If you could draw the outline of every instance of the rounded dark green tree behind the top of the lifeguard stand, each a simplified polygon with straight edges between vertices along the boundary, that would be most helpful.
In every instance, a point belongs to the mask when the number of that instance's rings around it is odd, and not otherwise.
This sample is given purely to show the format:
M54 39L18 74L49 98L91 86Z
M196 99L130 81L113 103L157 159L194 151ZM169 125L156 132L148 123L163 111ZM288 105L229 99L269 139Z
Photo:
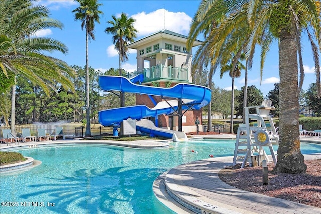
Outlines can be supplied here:
M244 89L245 86L241 88L240 94L236 96L236 100L238 102L238 106L236 106L236 117L242 116L244 117ZM247 104L248 106L259 106L261 105L263 100L263 93L256 88L255 86L248 86L247 87ZM250 114L256 114L256 109L255 108L249 108L249 113Z

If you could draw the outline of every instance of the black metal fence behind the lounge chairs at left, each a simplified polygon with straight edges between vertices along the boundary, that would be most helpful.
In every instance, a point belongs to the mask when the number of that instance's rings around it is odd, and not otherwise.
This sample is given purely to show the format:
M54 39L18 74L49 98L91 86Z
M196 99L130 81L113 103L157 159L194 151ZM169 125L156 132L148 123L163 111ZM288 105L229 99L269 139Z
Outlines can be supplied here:
M45 129L46 133L49 135L54 135L56 131L56 127L62 127L63 134L66 135L66 138L77 138L84 137L86 128L79 125L17 125L16 133L22 133L23 128L29 128L32 136L38 136L37 129ZM1 129L10 129L8 126L0 126ZM92 127L91 135L101 135L101 134L113 134L113 128L111 127L103 127L99 126L97 128ZM0 132L2 133L2 132Z

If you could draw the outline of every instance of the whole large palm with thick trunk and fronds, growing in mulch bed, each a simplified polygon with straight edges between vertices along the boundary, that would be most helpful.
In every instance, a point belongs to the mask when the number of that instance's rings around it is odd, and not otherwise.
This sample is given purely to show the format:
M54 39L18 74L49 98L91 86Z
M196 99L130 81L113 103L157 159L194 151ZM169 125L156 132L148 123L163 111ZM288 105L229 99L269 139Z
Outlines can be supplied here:
M261 46L261 77L266 54L274 40L279 41L280 141L275 172L304 173L306 165L300 151L298 94L304 79L301 36L306 32L312 47L318 95L321 94L319 48L321 46L321 4L319 1L204 0L196 12L197 21L222 18L208 37L209 55L220 59L221 47L230 43L233 32L248 25L246 58L251 64L256 45ZM199 28L202 28L200 25ZM197 33L194 31L193 33ZM191 34L191 37L195 35ZM231 46L230 53L237 47ZM298 70L300 81L298 83Z

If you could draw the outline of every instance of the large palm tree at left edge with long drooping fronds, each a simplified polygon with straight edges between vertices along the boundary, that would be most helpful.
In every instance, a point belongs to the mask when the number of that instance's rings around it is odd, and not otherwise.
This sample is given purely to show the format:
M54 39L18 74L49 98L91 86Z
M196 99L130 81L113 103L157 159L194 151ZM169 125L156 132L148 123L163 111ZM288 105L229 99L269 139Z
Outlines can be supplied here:
M1 81L7 81L5 91L12 87L11 131L15 133L16 76L25 76L50 96L51 89L60 83L73 90L69 77L74 71L63 61L44 55L41 51L67 53L67 47L54 39L32 37L47 27L62 28L62 24L48 17L44 6L32 6L31 1L0 1L0 69Z

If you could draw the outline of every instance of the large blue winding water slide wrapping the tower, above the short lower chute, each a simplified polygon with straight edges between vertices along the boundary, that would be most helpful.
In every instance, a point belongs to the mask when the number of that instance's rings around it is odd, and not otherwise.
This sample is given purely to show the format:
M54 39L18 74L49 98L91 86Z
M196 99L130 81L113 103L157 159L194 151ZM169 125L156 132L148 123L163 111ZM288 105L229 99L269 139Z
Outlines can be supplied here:
M146 95L161 96L164 98L181 98L190 100L189 106L200 109L211 100L211 89L187 83L179 83L170 88L137 85L129 79L121 76L99 76L99 86L105 91L121 91ZM140 120L145 117L156 117L161 114L171 114L176 107L160 105L159 108L149 108L145 105L136 105L107 109L98 112L99 123L104 126L112 126L128 118ZM186 108L186 107L185 107Z

